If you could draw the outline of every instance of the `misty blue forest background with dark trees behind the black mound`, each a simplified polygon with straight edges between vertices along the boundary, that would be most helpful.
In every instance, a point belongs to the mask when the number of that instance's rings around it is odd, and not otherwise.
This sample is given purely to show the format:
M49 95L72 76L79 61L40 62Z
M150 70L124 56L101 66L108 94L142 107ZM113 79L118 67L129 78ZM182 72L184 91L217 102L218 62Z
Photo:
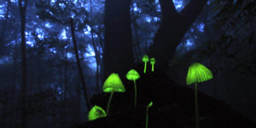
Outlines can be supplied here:
M0 0L1 127L70 127L110 73L154 56L178 84L192 62L199 90L256 120L253 0ZM85 93L84 93L85 92Z

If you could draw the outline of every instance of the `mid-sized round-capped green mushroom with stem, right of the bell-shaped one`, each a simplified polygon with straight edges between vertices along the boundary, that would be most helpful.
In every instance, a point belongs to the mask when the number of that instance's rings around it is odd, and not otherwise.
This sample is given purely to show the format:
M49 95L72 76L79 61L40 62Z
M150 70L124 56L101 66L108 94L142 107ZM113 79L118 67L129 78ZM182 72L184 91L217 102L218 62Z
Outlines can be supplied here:
M140 78L140 74L137 73L136 70L131 69L127 74L126 74L126 79L132 80L134 83L134 106L136 107L137 105L137 85L136 85L136 80Z

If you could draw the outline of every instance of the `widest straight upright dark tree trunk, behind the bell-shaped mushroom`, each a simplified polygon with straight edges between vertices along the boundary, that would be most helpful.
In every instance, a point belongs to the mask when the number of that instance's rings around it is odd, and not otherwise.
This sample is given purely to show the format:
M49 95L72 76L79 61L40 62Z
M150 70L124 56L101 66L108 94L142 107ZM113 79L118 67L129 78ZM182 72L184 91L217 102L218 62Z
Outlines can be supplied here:
M119 73L121 79L134 66L131 44L131 0L106 0L103 79Z

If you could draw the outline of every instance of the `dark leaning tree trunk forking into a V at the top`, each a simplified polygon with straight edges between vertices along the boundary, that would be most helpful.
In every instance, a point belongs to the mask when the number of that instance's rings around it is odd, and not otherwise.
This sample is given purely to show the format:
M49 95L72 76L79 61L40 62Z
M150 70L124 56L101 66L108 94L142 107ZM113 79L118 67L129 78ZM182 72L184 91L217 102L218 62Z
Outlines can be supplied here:
M148 55L156 58L157 69L167 72L168 62L172 59L177 45L206 3L206 0L190 0L183 11L177 13L172 0L160 0L161 25L148 51Z

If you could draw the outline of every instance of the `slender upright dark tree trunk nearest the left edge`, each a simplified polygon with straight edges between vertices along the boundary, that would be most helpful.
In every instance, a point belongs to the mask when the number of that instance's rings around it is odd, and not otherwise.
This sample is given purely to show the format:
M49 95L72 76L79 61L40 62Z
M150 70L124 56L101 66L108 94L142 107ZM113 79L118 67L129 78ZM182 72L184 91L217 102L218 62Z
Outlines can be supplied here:
M26 5L26 0L19 0L21 35L21 128L26 128Z

